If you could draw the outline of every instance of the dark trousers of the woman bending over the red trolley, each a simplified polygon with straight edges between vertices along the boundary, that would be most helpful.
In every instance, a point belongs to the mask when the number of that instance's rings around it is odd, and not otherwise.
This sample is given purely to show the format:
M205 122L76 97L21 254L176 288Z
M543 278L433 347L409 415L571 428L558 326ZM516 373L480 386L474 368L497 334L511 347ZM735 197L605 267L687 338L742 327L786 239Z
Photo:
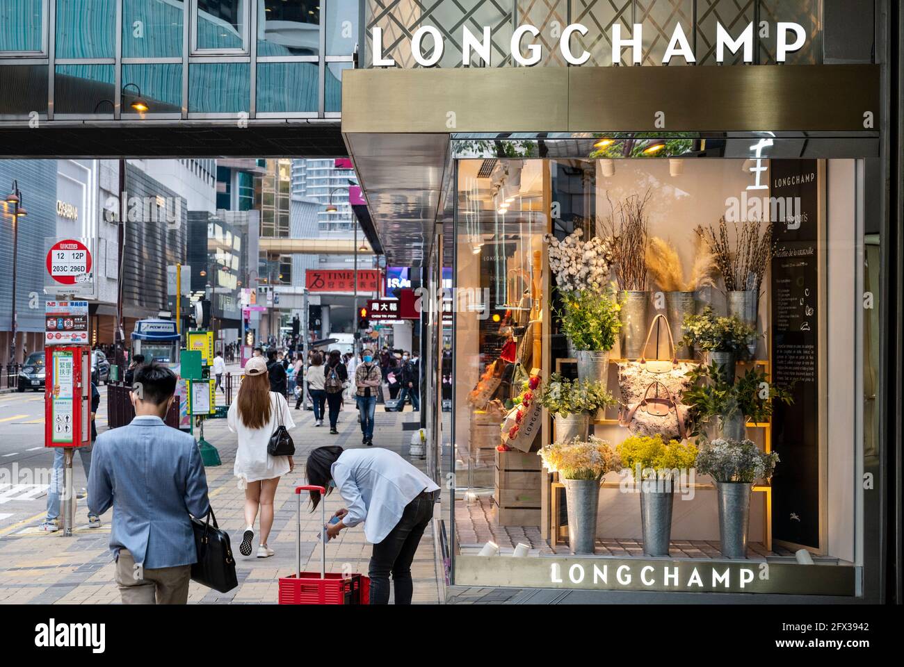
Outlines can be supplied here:
M401 519L379 544L373 545L368 568L371 578L371 604L387 605L390 601L390 574L395 587L395 604L410 605L414 586L411 583L411 561L418 550L424 529L433 518L436 493L420 493L405 506Z

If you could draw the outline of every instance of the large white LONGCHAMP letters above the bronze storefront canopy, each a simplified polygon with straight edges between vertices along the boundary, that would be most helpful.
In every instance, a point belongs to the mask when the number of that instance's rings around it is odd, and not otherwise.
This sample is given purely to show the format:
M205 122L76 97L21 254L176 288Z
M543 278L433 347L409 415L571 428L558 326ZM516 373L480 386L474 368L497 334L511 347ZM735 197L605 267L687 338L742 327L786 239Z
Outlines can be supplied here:
M462 64L471 63L472 53L476 53L477 57L485 64L489 64L492 52L492 29L485 25L483 33L478 37L472 33L467 26L462 26L461 52ZM737 38L733 38L730 33L722 26L716 23L716 62L722 64L726 57L726 53L735 54L742 52L744 62L753 62L753 40L754 23L748 23L747 27ZM560 24L554 22L550 26L550 32L553 39L559 40L559 50L562 57L570 65L583 65L589 61L590 54L587 51L575 52L572 44L572 38L575 33L586 36L589 30L586 25L581 23L571 23L565 28L561 28ZM643 23L634 23L630 37L622 34L621 23L613 23L610 27L610 42L612 43L612 61L620 62L623 49L629 49L631 52L631 61L639 65L643 58L644 44L644 25ZM787 55L799 51L806 42L806 31L800 23L777 22L775 25L776 32L776 61L785 62ZM372 45L373 45L373 67L395 67L396 61L391 56L383 55L383 31L381 27L372 28ZM759 23L759 36L761 38L768 37L769 23ZM433 41L432 50L425 54L424 39L430 35ZM512 39L509 48L512 53L513 60L525 67L536 65L542 58L542 46L540 44L528 42L526 46L526 54L523 51L522 42L530 35L530 38L540 36L540 30L529 24L518 26L512 33ZM421 67L433 67L443 57L443 49L445 41L442 33L434 25L422 25L416 30L410 39L411 55ZM668 45L662 57L662 64L667 65L674 57L681 57L687 62L695 62L687 33L681 23L675 23L672 37L669 39Z

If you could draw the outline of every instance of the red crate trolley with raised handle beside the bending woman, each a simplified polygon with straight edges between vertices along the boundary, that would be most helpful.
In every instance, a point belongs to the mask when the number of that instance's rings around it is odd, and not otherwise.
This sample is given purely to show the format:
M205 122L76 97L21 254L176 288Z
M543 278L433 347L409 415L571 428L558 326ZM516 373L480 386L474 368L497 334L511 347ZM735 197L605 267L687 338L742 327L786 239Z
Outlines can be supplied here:
M323 531L320 535L320 572L301 571L301 492L320 492ZM367 605L371 596L371 579L362 574L345 577L326 572L326 489L323 486L297 486L297 541L294 575L279 578L280 605Z

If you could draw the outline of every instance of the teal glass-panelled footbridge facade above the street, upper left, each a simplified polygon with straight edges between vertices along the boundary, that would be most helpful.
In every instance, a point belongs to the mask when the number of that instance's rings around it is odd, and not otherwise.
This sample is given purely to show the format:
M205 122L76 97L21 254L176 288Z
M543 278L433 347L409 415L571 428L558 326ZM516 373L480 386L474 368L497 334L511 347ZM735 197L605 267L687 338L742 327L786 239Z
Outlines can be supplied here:
M0 120L338 118L361 40L357 0L10 0L0 20Z

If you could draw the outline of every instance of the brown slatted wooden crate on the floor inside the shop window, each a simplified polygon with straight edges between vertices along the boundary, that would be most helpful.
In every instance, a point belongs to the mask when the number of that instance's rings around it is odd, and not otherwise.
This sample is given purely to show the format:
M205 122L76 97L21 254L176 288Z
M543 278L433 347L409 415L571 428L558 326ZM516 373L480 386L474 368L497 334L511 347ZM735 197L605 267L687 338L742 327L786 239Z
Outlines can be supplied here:
M542 471L535 453L496 451L493 499L501 526L539 526Z

